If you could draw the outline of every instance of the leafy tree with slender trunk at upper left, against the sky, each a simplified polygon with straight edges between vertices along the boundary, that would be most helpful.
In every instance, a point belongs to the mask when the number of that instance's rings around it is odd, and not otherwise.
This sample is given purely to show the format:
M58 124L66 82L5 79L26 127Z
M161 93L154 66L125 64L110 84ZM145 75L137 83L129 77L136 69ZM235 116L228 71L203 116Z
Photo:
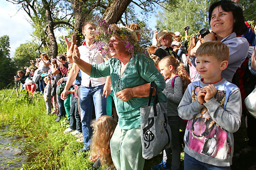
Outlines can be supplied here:
M41 46L48 50L51 58L58 54L58 46L54 30L62 27L72 27L71 6L65 0L7 0L17 4L24 10L34 28L35 40L41 41Z

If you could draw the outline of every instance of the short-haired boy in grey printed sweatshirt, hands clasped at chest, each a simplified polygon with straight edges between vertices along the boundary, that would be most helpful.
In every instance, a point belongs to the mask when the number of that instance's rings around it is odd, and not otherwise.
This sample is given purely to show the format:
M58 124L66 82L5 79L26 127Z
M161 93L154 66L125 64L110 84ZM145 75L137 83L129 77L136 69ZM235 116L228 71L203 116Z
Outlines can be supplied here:
M221 78L229 48L208 41L197 49L196 57L202 79L188 85L178 107L179 116L188 119L184 169L230 169L242 105L239 88Z

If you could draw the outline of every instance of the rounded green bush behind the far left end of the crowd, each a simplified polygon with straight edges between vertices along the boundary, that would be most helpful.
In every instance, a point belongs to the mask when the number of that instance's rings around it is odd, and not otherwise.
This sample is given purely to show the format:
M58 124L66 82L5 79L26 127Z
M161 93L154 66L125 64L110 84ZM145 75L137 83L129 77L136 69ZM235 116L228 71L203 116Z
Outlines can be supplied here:
M39 58L39 46L35 42L27 42L21 44L14 54L14 62L17 70L23 70L25 66L29 66L29 60ZM41 48L42 51L42 48Z

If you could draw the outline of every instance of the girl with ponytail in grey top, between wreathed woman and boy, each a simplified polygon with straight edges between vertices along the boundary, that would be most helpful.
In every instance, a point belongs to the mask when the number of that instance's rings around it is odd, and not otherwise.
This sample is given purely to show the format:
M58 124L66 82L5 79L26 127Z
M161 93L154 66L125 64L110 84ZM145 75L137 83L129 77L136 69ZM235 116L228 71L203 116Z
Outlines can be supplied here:
M168 122L172 131L172 145L163 151L163 160L151 169L170 169L170 153L172 152L172 169L180 167L179 130L181 118L178 116L178 105L187 85L190 84L183 64L173 56L166 56L159 62L160 72L166 79L166 88L163 90L168 99Z

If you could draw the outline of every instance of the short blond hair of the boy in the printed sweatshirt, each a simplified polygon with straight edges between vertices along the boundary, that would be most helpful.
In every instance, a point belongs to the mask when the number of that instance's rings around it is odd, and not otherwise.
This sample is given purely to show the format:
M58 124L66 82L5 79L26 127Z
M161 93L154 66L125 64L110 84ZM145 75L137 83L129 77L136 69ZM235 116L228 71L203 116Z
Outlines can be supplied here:
M218 61L228 61L229 48L221 41L208 41L200 45L196 56L214 56Z

